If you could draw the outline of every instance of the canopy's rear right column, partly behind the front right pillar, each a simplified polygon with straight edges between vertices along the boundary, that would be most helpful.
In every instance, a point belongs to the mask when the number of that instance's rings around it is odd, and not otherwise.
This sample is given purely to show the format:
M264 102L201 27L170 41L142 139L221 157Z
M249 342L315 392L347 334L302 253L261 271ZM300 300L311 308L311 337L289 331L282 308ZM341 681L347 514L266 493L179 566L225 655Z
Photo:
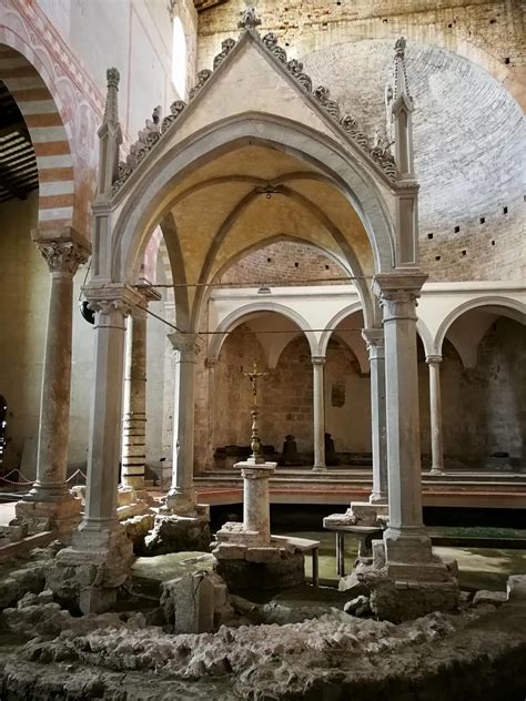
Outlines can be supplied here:
M387 416L385 407L385 348L383 328L364 328L371 365L373 491L371 504L387 504Z

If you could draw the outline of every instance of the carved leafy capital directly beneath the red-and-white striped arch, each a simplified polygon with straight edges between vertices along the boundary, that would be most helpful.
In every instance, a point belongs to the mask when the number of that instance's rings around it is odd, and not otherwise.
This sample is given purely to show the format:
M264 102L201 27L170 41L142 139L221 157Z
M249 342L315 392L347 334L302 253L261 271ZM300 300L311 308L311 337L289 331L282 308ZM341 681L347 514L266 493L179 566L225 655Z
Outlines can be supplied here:
M72 277L91 254L91 243L74 228L34 228L31 238L48 263L49 272Z

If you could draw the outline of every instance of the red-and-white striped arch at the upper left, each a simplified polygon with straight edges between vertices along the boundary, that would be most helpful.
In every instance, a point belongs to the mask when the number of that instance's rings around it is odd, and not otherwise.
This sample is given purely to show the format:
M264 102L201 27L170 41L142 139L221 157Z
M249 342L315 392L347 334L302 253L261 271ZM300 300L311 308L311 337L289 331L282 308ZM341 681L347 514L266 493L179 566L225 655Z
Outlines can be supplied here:
M14 38L18 39L18 38ZM9 45L9 42L16 48ZM0 80L14 98L28 128L39 173L41 228L73 224L74 164L70 130L45 65L30 48L0 27Z

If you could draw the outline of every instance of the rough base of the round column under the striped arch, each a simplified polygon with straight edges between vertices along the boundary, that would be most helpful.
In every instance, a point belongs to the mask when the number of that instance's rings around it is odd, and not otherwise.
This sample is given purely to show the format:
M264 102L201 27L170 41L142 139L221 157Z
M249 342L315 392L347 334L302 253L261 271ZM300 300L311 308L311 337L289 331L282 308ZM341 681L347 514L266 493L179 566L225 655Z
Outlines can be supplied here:
M16 518L9 525L21 528L28 536L45 530L57 531L58 538L68 543L73 529L81 521L81 508L82 500L69 492L61 500L22 499L14 506Z

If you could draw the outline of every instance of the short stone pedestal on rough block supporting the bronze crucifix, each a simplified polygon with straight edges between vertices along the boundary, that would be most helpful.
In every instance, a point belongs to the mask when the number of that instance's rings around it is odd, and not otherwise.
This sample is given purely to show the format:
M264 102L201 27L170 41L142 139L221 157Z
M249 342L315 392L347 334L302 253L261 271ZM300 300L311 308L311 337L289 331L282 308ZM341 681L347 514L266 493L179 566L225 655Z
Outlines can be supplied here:
M304 581L304 556L270 528L269 478L276 463L236 463L243 476L243 524L226 522L212 543L216 571L231 590L280 589Z

